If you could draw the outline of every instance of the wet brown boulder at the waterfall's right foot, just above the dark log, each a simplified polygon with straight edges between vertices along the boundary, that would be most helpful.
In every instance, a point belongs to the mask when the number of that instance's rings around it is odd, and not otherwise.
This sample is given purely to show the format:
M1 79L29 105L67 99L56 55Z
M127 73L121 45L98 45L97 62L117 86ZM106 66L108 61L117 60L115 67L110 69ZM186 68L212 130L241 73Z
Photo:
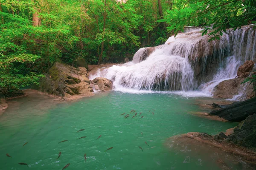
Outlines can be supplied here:
M243 81L244 79L239 78L224 80L215 87L213 95L225 99L232 99L233 96L242 93L244 99L253 98L255 96L253 85L249 85L249 83L241 84Z

